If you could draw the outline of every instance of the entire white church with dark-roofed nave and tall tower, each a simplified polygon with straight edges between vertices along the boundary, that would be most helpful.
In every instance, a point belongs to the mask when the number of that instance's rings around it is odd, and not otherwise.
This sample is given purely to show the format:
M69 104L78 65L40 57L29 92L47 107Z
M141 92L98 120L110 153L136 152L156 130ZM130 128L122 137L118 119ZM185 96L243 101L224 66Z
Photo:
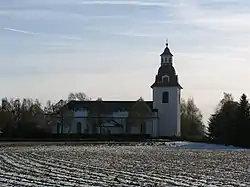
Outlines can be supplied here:
M168 43L151 85L153 101L70 101L53 133L180 136L181 85Z

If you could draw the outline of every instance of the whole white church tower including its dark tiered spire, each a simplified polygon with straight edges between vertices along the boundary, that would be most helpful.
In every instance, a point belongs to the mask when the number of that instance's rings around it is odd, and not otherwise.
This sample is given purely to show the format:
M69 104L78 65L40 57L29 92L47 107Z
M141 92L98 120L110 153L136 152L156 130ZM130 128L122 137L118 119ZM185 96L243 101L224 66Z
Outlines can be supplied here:
M153 89L153 107L158 109L158 136L181 136L180 97L181 85L173 66L173 55L168 42L160 55L161 65L155 76Z

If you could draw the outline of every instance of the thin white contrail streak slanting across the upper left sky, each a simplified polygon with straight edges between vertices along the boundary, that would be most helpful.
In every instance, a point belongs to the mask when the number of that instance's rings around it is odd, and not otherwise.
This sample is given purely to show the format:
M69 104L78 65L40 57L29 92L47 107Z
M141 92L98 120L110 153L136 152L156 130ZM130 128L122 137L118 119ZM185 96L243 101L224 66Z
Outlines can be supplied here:
M32 31L27 31L27 30L21 30L21 29L14 29L14 28L3 28L6 31L11 31L11 32L17 32L17 33L22 33L22 34L27 34L27 35L33 35L33 36L54 36L54 37L59 37L63 39L70 39L70 40L82 40L81 37L77 36L69 36L69 35L61 35L61 34L43 34L43 33L38 33L38 32L32 32Z

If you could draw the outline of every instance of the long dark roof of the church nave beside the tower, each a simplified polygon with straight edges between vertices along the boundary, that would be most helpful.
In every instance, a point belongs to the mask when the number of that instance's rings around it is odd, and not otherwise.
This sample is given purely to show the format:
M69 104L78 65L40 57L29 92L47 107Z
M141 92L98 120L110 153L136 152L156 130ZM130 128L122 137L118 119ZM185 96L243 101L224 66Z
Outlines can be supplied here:
M101 108L104 113L112 113L115 111L129 111L137 101L70 101L67 104L69 110L85 108L87 110L95 110ZM145 101L145 103L153 110L153 101Z

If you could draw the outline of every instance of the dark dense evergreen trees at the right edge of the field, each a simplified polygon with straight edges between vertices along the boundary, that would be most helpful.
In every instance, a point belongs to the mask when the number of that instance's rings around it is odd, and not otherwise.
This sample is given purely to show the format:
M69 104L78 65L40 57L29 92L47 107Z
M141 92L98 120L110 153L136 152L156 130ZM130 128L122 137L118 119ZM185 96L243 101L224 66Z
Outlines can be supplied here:
M208 122L207 137L219 144L250 147L250 104L245 94L235 101L224 93Z

